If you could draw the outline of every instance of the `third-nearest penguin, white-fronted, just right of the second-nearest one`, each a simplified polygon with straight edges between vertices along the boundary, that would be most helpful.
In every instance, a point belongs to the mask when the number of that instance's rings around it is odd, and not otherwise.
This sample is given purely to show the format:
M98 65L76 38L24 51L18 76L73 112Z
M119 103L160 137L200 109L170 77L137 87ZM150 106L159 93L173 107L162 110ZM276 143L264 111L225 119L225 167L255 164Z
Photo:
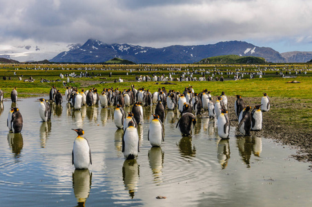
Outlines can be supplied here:
M154 119L150 121L150 127L148 128L148 141L152 146L159 147L164 141L164 128L163 122L159 119L159 115L154 114Z

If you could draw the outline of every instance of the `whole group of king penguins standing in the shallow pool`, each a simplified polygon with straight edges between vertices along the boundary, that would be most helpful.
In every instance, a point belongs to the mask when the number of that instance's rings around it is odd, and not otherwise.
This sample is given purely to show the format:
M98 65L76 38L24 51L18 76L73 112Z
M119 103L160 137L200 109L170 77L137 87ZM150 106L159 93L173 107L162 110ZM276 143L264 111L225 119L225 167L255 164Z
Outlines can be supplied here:
M164 117L165 110L177 109L181 117L177 121L176 128L179 128L182 136L191 136L192 129L196 124L196 117L208 111L209 118L217 119L217 132L220 138L228 139L231 123L228 119L227 97L224 92L217 96L215 102L211 92L202 90L195 93L193 87L186 87L184 92L168 90L162 87L153 94L145 88L131 88L119 90L119 88L104 88L101 95L96 88L78 92L77 88L66 87L65 99L71 103L74 110L80 110L81 106L94 106L100 103L102 108L115 106L114 123L119 129L124 130L122 137L122 152L126 159L135 159L139 153L139 135L137 126L143 124L143 107L156 104L153 119L148 128L148 141L153 147L159 147L164 141ZM270 109L269 96L264 92L261 104L246 106L241 95L236 95L235 115L238 119L238 131L244 135L251 135L252 130L262 130L262 112ZM55 86L52 86L49 93L50 100L39 99L39 116L42 121L50 121L52 102L61 105L63 97ZM0 102L3 101L3 91L0 89ZM17 102L17 89L11 92L12 104ZM131 111L124 111L124 107L132 107ZM7 126L14 133L21 132L23 118L19 108L12 107L8 113ZM72 129L77 132L72 149L72 164L77 169L87 169L92 164L91 150L88 140L84 137L84 130L81 128Z

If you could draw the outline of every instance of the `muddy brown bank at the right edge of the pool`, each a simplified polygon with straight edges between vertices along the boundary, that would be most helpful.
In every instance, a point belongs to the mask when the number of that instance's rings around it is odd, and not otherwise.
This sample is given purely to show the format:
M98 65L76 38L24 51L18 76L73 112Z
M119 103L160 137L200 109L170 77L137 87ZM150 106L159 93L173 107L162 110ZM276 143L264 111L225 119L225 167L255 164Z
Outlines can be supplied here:
M228 115L231 126L238 126L235 115L234 103L236 97L228 97ZM261 97L242 97L246 105L260 104ZM304 115L306 108L312 108L309 101L300 101L291 98L271 97L269 112L263 112L262 130L251 132L251 135L275 139L276 141L298 149L296 155L292 155L298 161L312 163L312 139L311 123L300 121L298 114ZM309 116L309 114L308 114ZM297 119L296 119L297 118ZM312 168L312 166L310 166Z

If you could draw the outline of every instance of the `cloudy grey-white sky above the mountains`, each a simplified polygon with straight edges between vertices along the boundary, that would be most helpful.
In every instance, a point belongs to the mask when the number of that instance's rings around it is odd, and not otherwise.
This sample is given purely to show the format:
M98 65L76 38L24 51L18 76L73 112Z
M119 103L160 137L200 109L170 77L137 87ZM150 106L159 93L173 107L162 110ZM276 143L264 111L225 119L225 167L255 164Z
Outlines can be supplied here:
M247 41L312 51L311 0L0 0L0 50L99 39L162 48Z

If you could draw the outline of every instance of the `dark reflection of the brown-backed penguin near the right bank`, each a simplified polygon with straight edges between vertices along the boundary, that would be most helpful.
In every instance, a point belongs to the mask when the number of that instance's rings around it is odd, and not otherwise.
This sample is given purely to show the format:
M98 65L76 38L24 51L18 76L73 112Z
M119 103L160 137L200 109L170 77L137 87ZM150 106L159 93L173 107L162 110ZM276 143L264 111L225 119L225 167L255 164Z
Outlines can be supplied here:
M237 147L240 152L242 160L247 165L247 168L250 168L250 159L251 159L251 149L253 143L251 137L240 137L237 138Z

